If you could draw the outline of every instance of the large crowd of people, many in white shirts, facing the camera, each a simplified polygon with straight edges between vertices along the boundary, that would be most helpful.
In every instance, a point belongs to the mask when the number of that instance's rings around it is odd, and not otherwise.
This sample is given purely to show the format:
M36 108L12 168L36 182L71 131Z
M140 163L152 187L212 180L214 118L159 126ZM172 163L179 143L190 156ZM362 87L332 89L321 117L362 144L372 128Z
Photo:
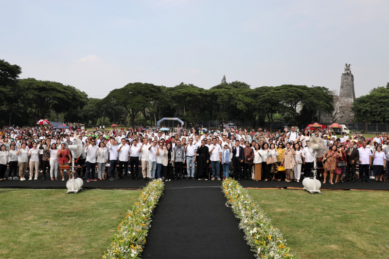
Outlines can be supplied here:
M52 129L51 127L9 127L0 131L0 181L19 179L71 178L72 153L68 146L75 139L82 143L82 154L75 157L77 174L90 181L162 178L255 181L301 181L312 177L314 152L312 138L321 138L327 151L318 158L319 179L335 184L343 181L375 181L388 178L388 136L323 130L285 129L269 133L230 128L221 130L183 129ZM8 170L8 177L6 172ZM97 172L96 172L97 171ZM359 174L357 176L357 173Z

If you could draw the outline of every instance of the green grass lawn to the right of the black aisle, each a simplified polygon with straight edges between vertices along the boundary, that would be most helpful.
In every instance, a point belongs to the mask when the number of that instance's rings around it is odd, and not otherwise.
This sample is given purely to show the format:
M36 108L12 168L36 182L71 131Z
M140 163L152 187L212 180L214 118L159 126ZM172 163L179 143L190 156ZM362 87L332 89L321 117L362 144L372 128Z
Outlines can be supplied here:
M389 192L248 192L301 259L389 258Z

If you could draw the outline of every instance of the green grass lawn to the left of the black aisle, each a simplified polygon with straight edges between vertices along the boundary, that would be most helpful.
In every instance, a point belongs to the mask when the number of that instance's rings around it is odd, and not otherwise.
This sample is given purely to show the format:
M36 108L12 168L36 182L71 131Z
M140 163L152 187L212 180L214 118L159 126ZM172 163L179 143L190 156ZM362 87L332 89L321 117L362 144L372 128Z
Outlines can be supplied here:
M0 258L101 258L140 194L0 189Z

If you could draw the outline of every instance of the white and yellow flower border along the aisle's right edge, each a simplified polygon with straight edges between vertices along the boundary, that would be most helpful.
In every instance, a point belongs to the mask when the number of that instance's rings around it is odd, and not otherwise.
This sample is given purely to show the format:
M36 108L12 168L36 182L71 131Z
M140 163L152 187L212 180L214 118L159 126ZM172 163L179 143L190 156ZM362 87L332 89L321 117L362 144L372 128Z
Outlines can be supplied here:
M227 198L227 206L231 206L240 220L239 228L245 232L245 239L255 252L257 258L291 259L290 247L278 228L272 227L263 210L255 200L235 180L223 180L223 192Z

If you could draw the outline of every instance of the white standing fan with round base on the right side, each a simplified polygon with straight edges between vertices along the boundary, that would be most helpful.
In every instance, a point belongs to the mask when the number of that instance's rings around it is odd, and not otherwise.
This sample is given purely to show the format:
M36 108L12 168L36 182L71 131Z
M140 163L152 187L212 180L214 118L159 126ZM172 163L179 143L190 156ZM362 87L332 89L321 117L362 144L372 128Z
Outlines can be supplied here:
M318 170L317 163L318 158L323 157L325 155L325 152L327 151L327 145L321 138L313 138L308 144L308 149L312 149L314 153L314 177L304 178L302 180L302 185L304 186L303 190L306 192L310 192L311 194L322 194L319 190L321 187L321 183L318 179L316 179Z

